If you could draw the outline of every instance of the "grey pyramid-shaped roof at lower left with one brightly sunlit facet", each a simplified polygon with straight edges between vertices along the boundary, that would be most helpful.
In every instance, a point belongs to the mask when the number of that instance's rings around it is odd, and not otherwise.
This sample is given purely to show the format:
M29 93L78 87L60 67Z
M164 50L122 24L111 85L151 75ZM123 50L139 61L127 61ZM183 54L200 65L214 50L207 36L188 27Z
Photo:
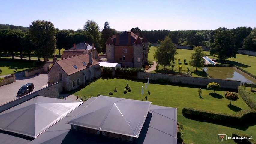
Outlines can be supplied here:
M37 96L0 113L0 129L37 137L80 104L74 101Z

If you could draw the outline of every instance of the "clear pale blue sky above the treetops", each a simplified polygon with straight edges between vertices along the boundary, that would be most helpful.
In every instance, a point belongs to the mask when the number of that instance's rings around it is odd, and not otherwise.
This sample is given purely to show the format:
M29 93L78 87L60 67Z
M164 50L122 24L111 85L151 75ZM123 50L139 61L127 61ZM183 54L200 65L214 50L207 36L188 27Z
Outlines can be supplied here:
M256 0L2 0L0 24L28 27L51 21L58 29L83 29L93 20L117 31L211 30L256 27Z

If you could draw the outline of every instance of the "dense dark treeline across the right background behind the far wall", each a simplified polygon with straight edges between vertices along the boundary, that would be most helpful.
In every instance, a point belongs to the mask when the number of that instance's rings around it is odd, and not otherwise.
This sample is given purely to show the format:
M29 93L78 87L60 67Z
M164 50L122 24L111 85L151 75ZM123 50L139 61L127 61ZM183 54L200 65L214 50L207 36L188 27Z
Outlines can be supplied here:
M254 28L255 29L255 28ZM256 51L255 47L255 30L250 27L237 27L229 29L230 41L233 42L236 48ZM141 31L147 40L151 43L159 43L164 40L165 36L171 38L174 44L180 45L195 45L195 46L210 46L214 40L216 30L187 30L187 31L169 31L169 30L154 30Z

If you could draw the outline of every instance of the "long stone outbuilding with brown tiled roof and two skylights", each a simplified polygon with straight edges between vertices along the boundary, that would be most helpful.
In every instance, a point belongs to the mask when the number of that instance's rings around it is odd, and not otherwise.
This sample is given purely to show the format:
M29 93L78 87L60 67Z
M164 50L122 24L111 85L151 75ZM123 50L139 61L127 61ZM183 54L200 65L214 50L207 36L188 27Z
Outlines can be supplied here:
M71 91L101 76L101 67L91 53L54 62L48 74L50 84L59 82L59 92Z

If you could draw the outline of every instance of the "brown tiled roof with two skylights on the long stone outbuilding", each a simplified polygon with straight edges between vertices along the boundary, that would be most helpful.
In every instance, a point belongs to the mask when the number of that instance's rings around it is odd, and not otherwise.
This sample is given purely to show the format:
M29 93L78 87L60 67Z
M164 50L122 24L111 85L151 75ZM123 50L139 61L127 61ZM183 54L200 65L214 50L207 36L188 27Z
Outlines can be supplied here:
M84 65L83 62L85 62L86 65ZM67 75L71 75L78 71L84 70L88 67L92 67L94 65L99 64L98 61L96 61L93 58L92 58L92 62L93 62L92 64L89 63L89 55L88 54L77 55L77 56L64 58L64 59L56 61L56 63L59 64L59 66L62 68L62 70L64 70L64 72ZM76 65L77 69L75 69L73 65Z

